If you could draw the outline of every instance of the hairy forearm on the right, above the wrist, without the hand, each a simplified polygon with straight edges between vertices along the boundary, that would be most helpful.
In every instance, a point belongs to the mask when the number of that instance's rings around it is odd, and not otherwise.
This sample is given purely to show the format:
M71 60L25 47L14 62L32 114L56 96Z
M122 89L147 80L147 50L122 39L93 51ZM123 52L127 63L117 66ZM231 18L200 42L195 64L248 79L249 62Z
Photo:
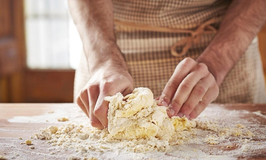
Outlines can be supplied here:
M208 66L219 86L265 23L265 8L264 0L234 0L216 36L196 60Z

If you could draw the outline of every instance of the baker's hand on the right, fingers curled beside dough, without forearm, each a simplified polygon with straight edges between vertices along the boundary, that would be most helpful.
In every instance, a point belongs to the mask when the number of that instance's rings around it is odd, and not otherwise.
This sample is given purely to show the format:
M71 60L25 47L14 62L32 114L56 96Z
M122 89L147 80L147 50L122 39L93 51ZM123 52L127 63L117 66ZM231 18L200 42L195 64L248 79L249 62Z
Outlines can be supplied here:
M172 116L196 118L219 94L219 87L208 67L192 58L176 66L166 84L158 105L168 107Z

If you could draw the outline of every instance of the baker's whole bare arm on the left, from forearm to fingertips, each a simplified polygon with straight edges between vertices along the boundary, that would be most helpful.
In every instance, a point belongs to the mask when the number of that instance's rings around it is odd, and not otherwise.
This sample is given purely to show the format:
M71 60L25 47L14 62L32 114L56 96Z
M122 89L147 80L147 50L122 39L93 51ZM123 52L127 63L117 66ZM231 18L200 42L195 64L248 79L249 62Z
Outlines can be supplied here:
M111 0L69 0L69 8L83 43L91 79L76 97L93 127L107 127L105 96L127 95L133 81L116 44Z

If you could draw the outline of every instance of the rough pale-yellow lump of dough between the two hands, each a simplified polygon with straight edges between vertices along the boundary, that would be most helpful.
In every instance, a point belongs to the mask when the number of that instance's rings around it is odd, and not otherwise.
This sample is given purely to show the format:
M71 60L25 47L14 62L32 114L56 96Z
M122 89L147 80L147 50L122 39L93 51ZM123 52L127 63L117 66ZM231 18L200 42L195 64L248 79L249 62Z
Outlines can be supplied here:
M116 139L157 137L169 141L175 132L196 127L186 117L171 117L166 107L158 106L148 88L135 88L123 97L121 93L104 98L109 102L108 131Z

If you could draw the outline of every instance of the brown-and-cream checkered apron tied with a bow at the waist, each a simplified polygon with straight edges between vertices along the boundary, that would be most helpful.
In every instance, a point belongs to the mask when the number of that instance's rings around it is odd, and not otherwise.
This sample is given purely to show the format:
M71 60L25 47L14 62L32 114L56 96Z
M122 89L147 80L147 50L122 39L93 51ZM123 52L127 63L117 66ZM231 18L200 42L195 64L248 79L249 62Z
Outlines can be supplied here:
M196 59L209 45L231 1L113 0L117 44L134 87L160 96L176 65ZM90 57L88 57L90 58ZM91 74L82 53L74 96ZM257 38L229 72L215 103L266 103Z

